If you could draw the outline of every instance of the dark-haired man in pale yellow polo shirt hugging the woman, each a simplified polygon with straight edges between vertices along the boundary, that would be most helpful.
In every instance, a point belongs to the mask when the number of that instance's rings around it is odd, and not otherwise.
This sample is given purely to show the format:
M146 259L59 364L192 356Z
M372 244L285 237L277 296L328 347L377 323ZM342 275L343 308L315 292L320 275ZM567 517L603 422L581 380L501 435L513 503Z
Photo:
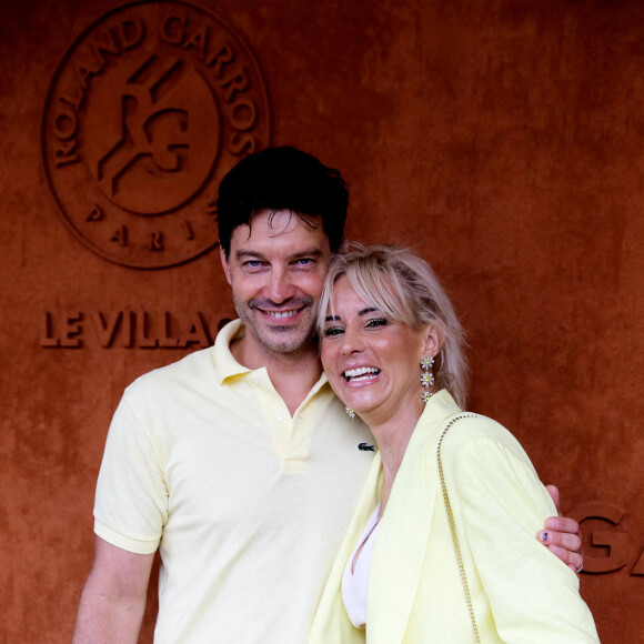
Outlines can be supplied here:
M222 181L221 261L240 320L125 391L77 644L137 642L158 549L157 643L305 642L372 454L314 333L348 200L335 170L293 148L253 154ZM573 534L551 530L546 543L578 549L576 523L559 522Z

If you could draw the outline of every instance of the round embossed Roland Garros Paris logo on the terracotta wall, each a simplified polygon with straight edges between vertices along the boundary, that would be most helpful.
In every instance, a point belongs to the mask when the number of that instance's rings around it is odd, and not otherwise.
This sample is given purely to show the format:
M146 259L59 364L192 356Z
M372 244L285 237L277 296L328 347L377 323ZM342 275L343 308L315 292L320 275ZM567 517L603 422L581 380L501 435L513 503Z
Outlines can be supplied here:
M172 266L215 244L219 182L269 129L259 67L230 28L185 2L134 2L92 24L56 72L44 169L93 251Z

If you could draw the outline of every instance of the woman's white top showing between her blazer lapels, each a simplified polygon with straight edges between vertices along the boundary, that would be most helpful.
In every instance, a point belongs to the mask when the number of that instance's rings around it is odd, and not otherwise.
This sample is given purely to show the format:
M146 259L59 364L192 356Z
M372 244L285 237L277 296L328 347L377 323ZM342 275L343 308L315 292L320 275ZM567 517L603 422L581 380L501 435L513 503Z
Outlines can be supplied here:
M344 608L356 628L366 626L366 598L369 595L369 571L371 570L371 557L373 555L373 545L380 527L380 503L371 515L366 527L358 540L342 576L342 601ZM363 545L364 544L364 545ZM360 556L355 560L360 546L362 546ZM353 572L351 571L353 566Z

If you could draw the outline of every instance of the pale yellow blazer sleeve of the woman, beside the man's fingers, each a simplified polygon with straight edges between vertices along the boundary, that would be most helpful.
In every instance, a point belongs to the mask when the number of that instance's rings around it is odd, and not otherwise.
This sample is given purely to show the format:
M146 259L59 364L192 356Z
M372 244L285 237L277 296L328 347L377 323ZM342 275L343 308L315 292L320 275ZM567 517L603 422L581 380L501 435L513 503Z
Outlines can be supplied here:
M536 540L556 510L527 455L489 419L462 423L470 427L460 427L465 431L452 443L447 485L501 640L598 642L576 575Z

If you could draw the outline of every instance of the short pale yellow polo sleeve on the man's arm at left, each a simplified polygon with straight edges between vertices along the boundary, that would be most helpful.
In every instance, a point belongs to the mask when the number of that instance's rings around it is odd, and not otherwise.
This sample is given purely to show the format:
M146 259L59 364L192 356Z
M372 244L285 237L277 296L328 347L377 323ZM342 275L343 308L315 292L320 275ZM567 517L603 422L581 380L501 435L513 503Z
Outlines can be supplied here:
M122 550L152 554L167 521L161 449L139 422L125 393L108 433L97 483L94 532Z

